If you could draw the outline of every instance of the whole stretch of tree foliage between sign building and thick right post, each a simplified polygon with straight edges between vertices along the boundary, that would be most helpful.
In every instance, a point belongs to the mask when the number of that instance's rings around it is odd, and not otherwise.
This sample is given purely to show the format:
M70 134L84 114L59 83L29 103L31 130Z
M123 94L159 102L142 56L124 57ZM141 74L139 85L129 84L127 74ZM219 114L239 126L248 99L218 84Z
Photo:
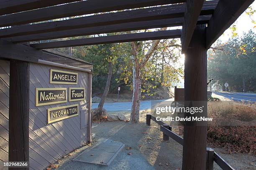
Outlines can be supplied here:
M138 60L142 60L152 41L136 43L140 46ZM158 87L170 87L172 83L179 82L179 79L183 77L183 65L177 65L180 59L180 50L180 42L177 40L161 40L154 55L141 69L143 95L153 96ZM92 92L94 94L104 91L108 77L108 62L113 64L110 93L116 93L117 87L121 87L120 92L132 92L131 43L73 47L72 54L93 64Z

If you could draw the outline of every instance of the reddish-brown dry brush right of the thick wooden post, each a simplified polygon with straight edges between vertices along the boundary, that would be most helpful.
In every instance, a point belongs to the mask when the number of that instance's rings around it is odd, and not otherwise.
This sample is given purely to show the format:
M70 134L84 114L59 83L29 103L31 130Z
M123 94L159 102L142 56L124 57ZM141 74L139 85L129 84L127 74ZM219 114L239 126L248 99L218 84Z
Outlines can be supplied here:
M228 153L256 154L256 104L208 102L207 141Z

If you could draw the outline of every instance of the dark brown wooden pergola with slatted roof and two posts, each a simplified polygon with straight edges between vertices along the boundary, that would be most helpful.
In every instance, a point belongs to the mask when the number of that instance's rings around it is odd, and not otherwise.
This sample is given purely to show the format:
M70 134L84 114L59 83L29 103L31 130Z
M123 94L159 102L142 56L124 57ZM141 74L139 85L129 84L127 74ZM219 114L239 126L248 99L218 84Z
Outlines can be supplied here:
M9 161L28 161L29 158L29 62L38 62L40 59L38 56L49 55L41 49L181 38L182 53L185 54L185 101L206 101L207 49L253 1L2 0L0 58L10 60ZM102 14L87 15L94 13ZM82 16L41 22L78 15ZM182 26L182 30L29 43L38 40L176 26ZM182 169L205 170L206 137L207 126L184 126Z

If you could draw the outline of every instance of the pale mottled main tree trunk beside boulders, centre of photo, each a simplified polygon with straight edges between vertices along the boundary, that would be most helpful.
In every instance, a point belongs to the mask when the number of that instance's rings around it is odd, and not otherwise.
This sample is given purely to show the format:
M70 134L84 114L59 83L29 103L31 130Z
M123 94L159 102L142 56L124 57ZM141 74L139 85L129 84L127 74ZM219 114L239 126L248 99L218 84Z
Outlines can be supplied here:
M131 123L139 122L140 104L141 104L141 76L136 62L136 56L133 56L133 101L131 108Z

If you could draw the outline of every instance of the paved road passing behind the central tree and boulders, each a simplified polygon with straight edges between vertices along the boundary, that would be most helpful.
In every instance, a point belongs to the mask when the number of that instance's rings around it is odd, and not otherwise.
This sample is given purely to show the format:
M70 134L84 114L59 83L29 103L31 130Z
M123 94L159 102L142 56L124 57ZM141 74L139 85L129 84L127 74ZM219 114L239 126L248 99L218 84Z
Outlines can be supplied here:
M174 100L174 99L168 99ZM154 101L164 101L164 100L154 100ZM92 103L92 108L97 108L99 103ZM113 103L104 103L103 108L108 112L118 112L118 111L131 111L132 102L113 102ZM142 101L140 110L147 110L151 108L151 100Z

